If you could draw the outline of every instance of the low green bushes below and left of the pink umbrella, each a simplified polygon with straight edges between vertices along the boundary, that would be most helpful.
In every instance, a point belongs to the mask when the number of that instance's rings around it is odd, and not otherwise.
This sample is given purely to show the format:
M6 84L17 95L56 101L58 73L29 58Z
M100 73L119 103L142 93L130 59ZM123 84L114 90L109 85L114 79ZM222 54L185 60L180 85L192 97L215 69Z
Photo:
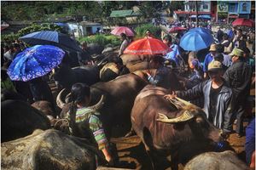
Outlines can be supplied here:
M121 44L121 40L116 36L106 36L106 35L95 35L90 37L79 37L79 42L87 42L87 43L98 43L102 46L106 46L108 44L112 44L113 46L118 46Z

